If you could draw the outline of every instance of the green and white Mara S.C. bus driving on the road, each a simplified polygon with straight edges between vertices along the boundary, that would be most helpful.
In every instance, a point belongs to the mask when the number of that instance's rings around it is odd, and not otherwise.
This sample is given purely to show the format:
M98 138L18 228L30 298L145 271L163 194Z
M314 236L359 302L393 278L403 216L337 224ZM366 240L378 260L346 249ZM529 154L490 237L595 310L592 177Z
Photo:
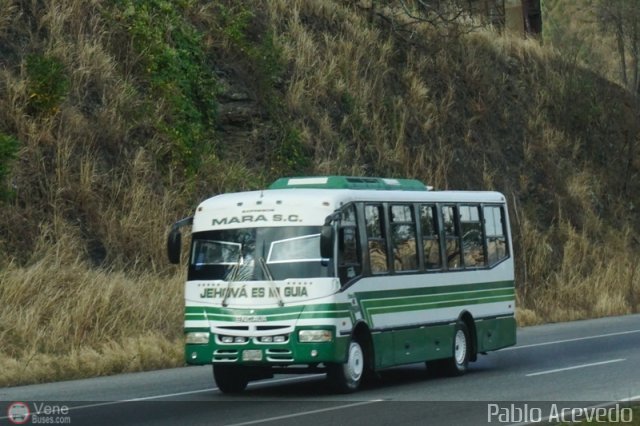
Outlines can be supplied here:
M274 373L320 373L342 392L384 368L460 375L516 341L505 197L417 180L282 178L222 194L167 243L185 284L185 359L223 392Z

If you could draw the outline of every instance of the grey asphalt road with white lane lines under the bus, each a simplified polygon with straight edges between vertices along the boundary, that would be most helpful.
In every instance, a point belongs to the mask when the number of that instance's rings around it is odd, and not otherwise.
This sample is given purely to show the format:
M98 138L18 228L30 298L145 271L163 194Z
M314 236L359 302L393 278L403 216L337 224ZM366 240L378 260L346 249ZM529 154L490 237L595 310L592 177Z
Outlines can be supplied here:
M639 365L640 315L629 315L522 328L517 346L480 356L465 376L412 364L349 395L332 394L322 375L276 376L225 395L210 367L1 388L0 425L12 424L7 407L16 401L39 408L41 421L73 425L526 424L616 401L624 415L628 401L640 401ZM36 401L47 402L49 420Z

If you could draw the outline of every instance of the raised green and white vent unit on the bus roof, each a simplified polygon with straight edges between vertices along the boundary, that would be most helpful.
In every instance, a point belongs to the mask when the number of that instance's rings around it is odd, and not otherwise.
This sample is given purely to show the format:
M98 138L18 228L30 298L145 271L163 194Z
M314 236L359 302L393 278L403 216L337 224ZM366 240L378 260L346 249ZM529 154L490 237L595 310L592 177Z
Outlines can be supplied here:
M269 189L377 189L395 191L429 191L433 189L416 179L390 179L355 176L309 176L280 178Z

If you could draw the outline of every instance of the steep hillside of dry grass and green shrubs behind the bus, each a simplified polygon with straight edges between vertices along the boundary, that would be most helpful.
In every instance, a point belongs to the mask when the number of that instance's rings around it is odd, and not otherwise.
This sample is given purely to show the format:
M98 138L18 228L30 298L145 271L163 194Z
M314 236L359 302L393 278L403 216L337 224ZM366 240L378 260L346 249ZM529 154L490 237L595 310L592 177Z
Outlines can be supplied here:
M0 0L0 386L179 365L168 226L283 175L499 190L521 324L640 310L627 93L366 3Z

